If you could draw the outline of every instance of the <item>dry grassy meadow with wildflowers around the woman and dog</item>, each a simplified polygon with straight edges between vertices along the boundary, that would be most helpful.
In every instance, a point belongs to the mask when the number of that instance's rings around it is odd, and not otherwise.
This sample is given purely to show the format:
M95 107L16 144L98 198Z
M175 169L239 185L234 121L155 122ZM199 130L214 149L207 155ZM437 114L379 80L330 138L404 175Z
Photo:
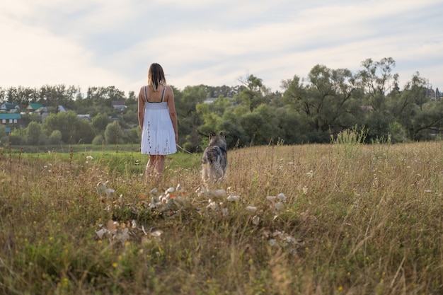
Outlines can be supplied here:
M1 294L442 294L443 143L0 149Z

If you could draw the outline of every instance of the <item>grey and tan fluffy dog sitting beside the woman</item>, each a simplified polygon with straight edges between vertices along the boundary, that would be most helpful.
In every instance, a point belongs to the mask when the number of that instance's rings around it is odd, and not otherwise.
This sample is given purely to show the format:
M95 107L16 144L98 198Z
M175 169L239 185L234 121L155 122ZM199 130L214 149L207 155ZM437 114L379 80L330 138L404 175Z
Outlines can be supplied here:
M220 132L219 135L216 135L214 132L210 132L209 144L202 156L202 180L205 187L208 188L209 183L220 185L224 180L227 168L228 151L224 133Z

